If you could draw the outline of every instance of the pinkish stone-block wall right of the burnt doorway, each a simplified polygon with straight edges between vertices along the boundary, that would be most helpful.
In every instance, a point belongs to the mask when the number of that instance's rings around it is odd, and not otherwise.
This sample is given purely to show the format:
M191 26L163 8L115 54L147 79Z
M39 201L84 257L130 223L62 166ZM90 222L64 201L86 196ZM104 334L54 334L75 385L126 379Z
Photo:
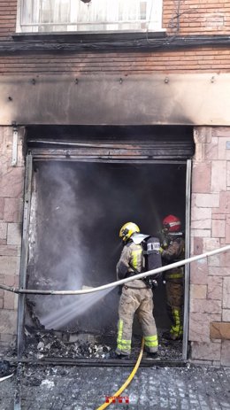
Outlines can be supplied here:
M230 128L196 128L191 253L230 244ZM230 366L230 251L191 264L193 360Z

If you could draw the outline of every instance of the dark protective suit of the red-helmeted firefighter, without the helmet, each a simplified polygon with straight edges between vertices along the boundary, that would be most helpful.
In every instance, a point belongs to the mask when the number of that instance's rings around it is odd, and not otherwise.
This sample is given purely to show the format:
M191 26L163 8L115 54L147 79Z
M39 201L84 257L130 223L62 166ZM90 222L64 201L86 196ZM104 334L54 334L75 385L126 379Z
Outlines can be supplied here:
M185 241L182 234L169 236L169 244L162 251L164 265L177 262L185 257ZM167 310L172 320L172 339L183 334L184 267L174 267L165 272Z

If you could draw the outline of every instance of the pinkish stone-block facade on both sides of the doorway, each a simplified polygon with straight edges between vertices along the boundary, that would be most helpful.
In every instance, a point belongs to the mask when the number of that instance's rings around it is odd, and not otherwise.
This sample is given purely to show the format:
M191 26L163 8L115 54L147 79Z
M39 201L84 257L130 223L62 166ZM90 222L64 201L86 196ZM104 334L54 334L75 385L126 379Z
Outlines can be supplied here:
M0 127L0 283L19 284L25 165L19 130L12 166L12 127ZM230 128L195 128L191 255L230 244ZM17 295L0 290L0 344L14 342ZM230 366L230 252L190 265L191 360Z

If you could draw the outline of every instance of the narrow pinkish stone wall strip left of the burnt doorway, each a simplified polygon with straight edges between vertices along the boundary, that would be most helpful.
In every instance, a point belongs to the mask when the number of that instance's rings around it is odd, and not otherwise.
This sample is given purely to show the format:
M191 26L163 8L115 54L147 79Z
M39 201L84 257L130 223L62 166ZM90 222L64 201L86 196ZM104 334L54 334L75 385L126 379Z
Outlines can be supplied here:
M24 162L21 140L18 163L12 166L12 127L0 127L0 283L19 284ZM15 337L17 295L0 290L0 345Z

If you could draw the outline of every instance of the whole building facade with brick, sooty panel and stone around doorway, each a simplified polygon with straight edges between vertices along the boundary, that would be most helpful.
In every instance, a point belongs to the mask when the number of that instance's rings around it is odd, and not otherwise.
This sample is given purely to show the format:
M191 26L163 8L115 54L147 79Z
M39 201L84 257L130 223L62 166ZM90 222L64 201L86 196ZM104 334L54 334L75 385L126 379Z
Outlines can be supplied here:
M190 161L184 205L187 256L230 244L229 4L109 3L0 4L0 283L6 286L27 284L28 152L36 160L111 155L122 161L130 154L116 138L121 128L132 128L131 148L135 141L141 147L134 160L145 162L142 138L132 138L135 129L150 127L165 144L168 127L182 130L181 150L175 132L175 155L163 144L158 157L152 154L148 161ZM69 152L66 143L63 152L57 151L57 130L69 135L71 128L73 136L79 127L90 132L111 127L114 152L98 153L107 149L101 146L102 134L95 136L95 151L88 153L84 146L85 151L78 147L75 152L74 143ZM192 155L185 148L187 128ZM185 348L194 362L230 366L229 268L229 252L190 264ZM0 290L2 345L15 341L20 304L17 295Z

